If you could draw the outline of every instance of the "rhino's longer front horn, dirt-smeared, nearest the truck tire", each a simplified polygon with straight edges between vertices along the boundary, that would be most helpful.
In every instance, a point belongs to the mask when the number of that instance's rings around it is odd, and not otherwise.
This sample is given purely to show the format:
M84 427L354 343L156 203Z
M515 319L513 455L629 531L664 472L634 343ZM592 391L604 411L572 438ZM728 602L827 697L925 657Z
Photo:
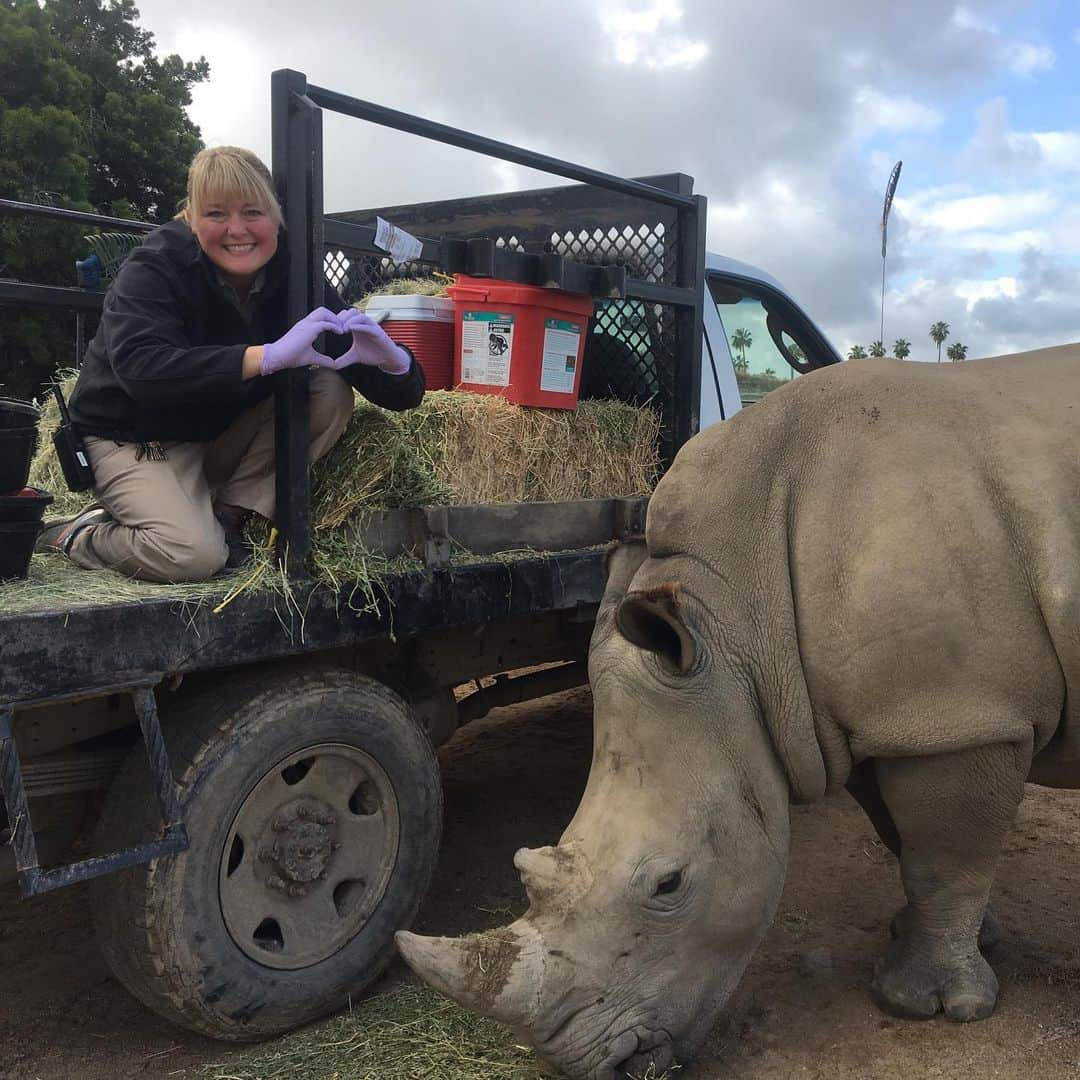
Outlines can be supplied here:
M519 920L468 937L394 935L408 966L459 1004L510 1027L528 1028L540 1008L543 945Z

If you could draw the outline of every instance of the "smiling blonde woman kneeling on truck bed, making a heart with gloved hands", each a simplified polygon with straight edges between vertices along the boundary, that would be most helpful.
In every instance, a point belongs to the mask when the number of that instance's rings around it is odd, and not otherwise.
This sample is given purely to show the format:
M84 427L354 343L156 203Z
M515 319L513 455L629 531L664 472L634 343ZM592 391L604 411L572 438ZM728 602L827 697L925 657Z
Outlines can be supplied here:
M327 307L289 326L287 289L266 165L239 147L203 150L184 210L106 294L70 402L96 502L50 524L39 550L149 581L203 580L243 562L248 514L273 519L269 376L314 368L312 461L345 431L353 389L384 408L420 403L423 373L404 346L330 288Z

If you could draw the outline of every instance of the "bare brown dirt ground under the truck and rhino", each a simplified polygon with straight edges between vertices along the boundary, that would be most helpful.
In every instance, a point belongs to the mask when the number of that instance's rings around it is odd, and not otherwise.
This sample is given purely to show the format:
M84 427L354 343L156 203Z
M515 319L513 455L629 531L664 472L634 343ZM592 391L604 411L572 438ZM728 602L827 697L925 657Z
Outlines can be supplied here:
M588 771L590 710L585 690L500 710L443 748L445 843L421 930L474 930L521 910L511 858L554 842L569 820ZM894 862L846 795L796 808L778 919L726 1022L679 1076L1080 1077L1078 846L1080 793L1030 787L995 895L1008 931L994 958L997 1013L968 1026L903 1022L867 994L901 903ZM157 1018L110 978L82 888L31 902L0 890L2 1080L185 1077L230 1053Z

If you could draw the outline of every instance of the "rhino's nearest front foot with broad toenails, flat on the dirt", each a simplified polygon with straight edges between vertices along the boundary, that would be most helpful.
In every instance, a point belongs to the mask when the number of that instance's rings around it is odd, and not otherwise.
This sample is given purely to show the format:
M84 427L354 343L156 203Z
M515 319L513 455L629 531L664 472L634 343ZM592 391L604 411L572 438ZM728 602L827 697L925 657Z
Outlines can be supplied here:
M877 1003L896 1016L929 1020L944 1011L957 1023L985 1020L998 1000L998 980L990 966L972 949L956 949L918 931L903 932L891 942L874 971Z

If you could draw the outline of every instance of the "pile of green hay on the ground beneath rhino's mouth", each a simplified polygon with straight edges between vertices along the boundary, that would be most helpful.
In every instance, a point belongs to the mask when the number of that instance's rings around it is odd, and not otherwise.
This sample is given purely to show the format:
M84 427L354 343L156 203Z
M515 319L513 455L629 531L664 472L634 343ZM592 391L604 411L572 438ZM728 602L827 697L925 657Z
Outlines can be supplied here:
M206 1065L207 1080L541 1080L557 1074L494 1021L427 986L401 986L255 1054ZM649 1069L638 1080L667 1080Z

